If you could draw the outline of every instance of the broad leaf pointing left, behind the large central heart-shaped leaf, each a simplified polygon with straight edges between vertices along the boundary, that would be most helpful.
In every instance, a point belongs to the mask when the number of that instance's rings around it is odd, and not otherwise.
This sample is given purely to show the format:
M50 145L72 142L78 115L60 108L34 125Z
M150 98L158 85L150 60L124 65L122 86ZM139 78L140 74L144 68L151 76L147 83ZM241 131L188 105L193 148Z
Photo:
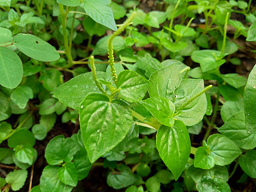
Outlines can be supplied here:
M97 77L111 81L112 77L106 72L97 72ZM106 86L103 86L106 88ZM70 108L78 109L84 97L89 93L101 93L93 81L92 72L81 74L70 79L56 88L52 94L63 104Z

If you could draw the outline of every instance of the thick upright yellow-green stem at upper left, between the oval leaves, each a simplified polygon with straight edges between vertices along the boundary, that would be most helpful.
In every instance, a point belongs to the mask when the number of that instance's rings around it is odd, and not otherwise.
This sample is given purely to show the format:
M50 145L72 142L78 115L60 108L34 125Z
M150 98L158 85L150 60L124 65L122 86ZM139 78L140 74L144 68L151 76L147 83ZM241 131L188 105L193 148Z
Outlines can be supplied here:
M60 7L60 15L61 15L61 25L62 25L62 32L63 32L63 40L64 40L64 47L66 51L66 55L68 58L68 65L65 68L70 68L73 65L73 59L72 55L68 46L68 36L67 36L67 24L66 24L66 15L67 13L64 13L64 7L63 4L59 4Z

